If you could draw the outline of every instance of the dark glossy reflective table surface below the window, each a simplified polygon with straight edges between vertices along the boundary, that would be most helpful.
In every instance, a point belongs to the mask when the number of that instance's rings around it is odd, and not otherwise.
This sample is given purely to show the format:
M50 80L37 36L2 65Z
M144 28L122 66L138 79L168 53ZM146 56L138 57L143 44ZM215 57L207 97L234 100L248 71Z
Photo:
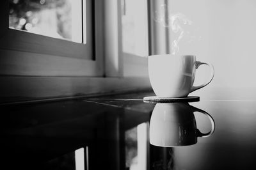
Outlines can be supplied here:
M1 106L4 169L254 169L255 100L153 93Z

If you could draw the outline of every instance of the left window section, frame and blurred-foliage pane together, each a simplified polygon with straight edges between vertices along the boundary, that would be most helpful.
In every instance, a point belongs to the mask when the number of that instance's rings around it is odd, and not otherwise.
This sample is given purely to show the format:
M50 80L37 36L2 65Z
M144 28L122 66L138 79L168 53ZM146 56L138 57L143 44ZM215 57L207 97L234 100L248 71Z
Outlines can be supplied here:
M4 74L102 76L102 5L99 3L102 2L4 1L0 7L2 59L12 62L8 65L13 65L13 61L17 65L15 70L10 68ZM26 62L17 63L19 60Z

